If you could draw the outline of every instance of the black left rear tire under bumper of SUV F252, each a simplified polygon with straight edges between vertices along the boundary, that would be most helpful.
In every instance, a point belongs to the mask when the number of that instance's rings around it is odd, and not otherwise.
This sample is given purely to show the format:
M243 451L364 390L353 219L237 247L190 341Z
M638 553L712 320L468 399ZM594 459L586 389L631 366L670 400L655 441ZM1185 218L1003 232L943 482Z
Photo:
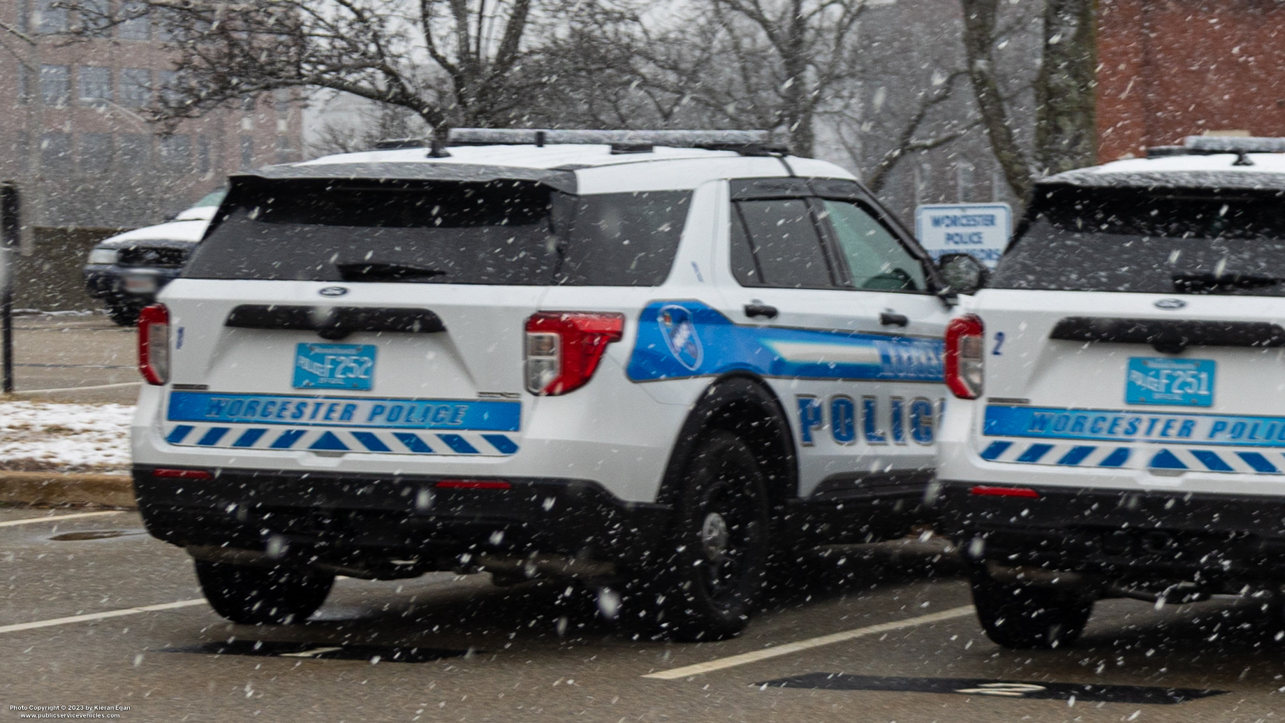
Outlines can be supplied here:
M200 592L215 612L245 625L299 623L330 594L334 575L299 567L248 567L197 560Z

